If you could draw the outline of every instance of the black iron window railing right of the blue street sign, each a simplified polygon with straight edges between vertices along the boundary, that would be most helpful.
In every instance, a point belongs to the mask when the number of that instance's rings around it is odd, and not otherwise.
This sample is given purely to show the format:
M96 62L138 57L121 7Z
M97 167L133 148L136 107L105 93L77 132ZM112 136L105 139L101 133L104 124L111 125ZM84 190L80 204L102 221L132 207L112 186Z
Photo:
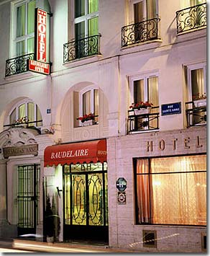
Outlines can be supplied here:
M186 118L188 128L206 125L206 106L195 107L193 102L186 102Z

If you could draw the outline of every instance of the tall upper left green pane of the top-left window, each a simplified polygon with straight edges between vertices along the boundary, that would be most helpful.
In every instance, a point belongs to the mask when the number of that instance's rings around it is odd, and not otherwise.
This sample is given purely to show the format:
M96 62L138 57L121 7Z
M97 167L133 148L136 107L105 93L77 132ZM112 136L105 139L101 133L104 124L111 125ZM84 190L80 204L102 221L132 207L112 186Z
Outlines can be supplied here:
M25 35L25 4L17 7L17 30L16 36L21 37Z

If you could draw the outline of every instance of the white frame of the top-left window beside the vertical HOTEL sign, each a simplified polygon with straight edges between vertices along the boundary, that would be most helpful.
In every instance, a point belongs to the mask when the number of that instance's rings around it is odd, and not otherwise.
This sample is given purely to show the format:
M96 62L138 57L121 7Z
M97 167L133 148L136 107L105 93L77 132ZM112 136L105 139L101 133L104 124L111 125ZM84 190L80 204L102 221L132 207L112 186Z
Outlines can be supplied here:
M35 38L35 31L32 32L32 33L26 34L26 32L27 32L27 4L30 1L31 0L17 0L17 1L14 1L11 4L11 14L12 14L12 17L11 17L11 28L12 29L11 29L11 32L10 32L10 34L11 34L10 35L10 45L11 45L11 47L10 47L10 56L11 56L11 58L18 57L17 50L16 50L17 43L24 40L24 42L25 42L25 45L24 45L25 53L24 54L27 54L27 53L29 53L28 50L27 50L27 40L29 38L32 38L32 37ZM17 37L16 36L16 32L17 32L17 8L19 6L22 6L22 4L24 4L25 8L26 8L26 10L25 10L25 14L26 14L25 27L24 27L25 31L24 31L24 35L22 35L21 37ZM36 4L36 1L35 1L35 4Z

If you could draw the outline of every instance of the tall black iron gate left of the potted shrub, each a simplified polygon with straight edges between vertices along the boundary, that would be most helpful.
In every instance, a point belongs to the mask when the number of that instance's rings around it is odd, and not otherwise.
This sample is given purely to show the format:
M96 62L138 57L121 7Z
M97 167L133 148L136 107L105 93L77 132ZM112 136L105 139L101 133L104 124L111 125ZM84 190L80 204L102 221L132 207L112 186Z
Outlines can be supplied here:
M18 229L19 234L34 232L38 223L38 200L40 185L40 165L18 166Z

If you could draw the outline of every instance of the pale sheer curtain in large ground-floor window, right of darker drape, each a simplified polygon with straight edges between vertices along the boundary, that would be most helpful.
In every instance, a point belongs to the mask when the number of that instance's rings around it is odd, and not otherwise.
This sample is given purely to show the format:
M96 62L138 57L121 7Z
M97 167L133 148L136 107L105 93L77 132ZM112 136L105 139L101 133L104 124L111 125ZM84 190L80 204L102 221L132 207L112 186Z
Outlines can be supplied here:
M152 175L152 223L205 225L205 170L206 156L151 159L151 172L160 172Z

